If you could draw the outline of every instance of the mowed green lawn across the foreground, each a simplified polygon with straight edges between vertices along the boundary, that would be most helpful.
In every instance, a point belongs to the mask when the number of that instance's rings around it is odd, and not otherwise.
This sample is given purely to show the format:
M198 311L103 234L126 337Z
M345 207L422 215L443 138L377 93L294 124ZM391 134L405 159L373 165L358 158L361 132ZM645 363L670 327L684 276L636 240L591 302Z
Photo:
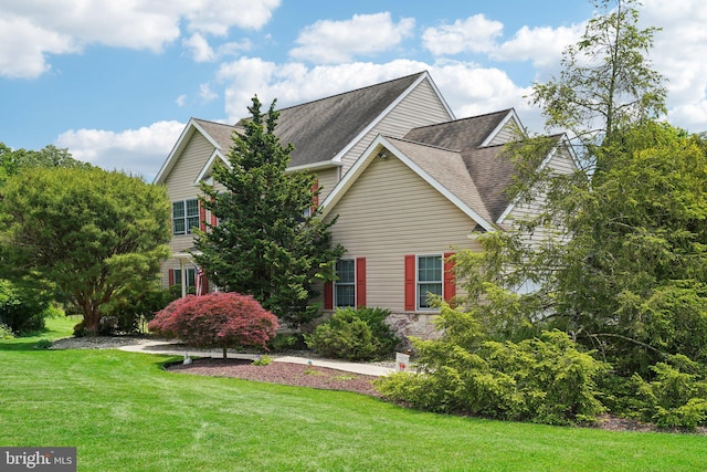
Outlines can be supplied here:
M77 447L80 471L707 469L707 437L422 413L348 392L169 374L167 356L39 350L41 337L0 344L0 445Z

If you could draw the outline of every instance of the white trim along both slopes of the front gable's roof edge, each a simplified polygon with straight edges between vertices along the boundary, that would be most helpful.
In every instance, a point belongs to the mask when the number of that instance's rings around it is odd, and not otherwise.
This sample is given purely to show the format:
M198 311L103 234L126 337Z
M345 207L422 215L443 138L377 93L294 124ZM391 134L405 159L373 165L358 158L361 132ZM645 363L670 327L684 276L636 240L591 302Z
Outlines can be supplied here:
M354 166L349 169L348 172L344 176L341 180L334 187L331 192L327 196L324 202L320 204L321 207L321 217L326 217L330 211L330 208L336 206L336 202L346 193L348 188L354 185L354 182L360 177L363 170L370 165L372 159L376 158L380 149L386 148L390 153L393 154L401 162L408 166L413 172L420 176L424 181L430 183L435 190L442 193L447 200L450 200L455 207L462 210L467 217L472 220L476 221L482 228L486 231L495 231L496 228L489 222L486 221L483 217L481 217L476 211L469 208L466 203L460 200L454 193L452 193L446 187L435 180L432 176L430 176L426 171L424 171L420 166L418 166L414 161L412 161L404 153L393 146L384 136L378 135L376 139L368 146L366 151L359 157Z

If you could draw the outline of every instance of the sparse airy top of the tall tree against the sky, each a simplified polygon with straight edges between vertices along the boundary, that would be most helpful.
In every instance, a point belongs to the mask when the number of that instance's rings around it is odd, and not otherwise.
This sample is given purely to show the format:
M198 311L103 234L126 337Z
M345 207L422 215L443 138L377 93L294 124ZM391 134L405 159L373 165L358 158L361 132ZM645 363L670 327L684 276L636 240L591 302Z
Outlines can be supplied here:
M563 51L560 76L534 84L530 102L541 107L546 126L569 132L591 160L615 132L666 111L664 77L647 59L659 29L639 29L639 4L598 0L600 14L589 21L581 40ZM598 170L606 168L601 159L594 164Z

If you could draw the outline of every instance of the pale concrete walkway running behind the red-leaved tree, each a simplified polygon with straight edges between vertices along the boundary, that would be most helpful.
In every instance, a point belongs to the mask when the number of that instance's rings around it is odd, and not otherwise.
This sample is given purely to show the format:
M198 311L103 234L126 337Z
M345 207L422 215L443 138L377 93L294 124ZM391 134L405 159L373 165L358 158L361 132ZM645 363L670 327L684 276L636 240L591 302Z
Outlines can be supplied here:
M222 358L223 352L221 349L196 349L187 347L179 343L172 343L168 340L145 340L140 344L134 344L129 346L119 347L120 350L127 350L129 353L145 353L145 354L167 354L175 356L183 356L188 354L191 357L213 357L213 358ZM228 353L226 356L230 359L255 359L257 355L255 354L240 354L240 353ZM377 366L373 364L357 364L357 363L347 363L344 360L336 359L320 359L317 357L306 358L306 357L297 357L297 356L277 356L271 355L273 361L275 363L291 363L291 364L302 364L308 365L312 363L312 366L316 367L327 367L330 369L344 370L348 373L362 374L367 376L376 376L382 377L394 371L393 368Z

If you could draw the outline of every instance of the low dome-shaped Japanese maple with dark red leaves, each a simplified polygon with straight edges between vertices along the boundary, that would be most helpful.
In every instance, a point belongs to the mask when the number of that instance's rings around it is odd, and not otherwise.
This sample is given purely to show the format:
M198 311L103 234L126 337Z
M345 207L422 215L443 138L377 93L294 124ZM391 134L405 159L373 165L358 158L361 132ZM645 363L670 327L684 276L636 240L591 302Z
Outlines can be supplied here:
M260 346L275 336L277 318L251 295L213 292L187 295L167 305L148 325L158 335L197 347Z

